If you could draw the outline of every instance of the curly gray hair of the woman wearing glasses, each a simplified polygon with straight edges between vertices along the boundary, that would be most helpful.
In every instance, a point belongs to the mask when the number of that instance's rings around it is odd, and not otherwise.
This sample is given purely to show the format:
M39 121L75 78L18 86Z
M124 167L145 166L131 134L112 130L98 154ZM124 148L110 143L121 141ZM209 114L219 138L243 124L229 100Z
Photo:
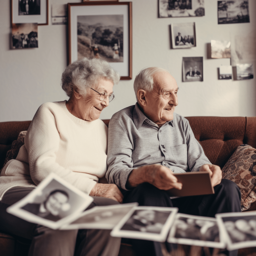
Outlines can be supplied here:
M61 76L61 86L68 97L73 91L85 96L87 89L97 84L101 78L118 84L120 75L105 60L82 58L69 64Z

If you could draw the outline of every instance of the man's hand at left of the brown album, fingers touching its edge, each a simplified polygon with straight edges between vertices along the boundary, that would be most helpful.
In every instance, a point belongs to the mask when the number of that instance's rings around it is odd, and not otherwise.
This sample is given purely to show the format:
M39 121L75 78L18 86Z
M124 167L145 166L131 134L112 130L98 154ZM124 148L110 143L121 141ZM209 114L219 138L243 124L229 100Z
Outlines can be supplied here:
M171 170L160 164L145 165L133 169L128 177L127 186L137 187L144 182L148 182L161 190L182 188L182 183L178 182Z

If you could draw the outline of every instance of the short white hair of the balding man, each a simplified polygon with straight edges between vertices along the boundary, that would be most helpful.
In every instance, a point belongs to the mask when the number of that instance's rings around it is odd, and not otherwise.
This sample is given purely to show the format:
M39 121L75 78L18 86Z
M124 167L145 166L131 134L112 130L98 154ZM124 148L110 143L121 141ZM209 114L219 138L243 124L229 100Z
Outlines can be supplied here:
M133 83L133 89L137 98L137 92L138 90L144 90L146 92L151 92L155 86L153 76L154 74L158 72L167 72L166 69L158 68L158 67L150 67L142 69L139 74L135 77L134 83Z

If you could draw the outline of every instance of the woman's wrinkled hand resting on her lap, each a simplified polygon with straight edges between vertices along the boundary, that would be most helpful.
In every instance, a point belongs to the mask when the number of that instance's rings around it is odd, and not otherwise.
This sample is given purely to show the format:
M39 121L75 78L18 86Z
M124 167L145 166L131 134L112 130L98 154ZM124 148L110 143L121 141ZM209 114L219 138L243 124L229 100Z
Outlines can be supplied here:
M119 203L123 202L123 194L115 184L96 183L92 188L90 196L101 196L116 200Z

